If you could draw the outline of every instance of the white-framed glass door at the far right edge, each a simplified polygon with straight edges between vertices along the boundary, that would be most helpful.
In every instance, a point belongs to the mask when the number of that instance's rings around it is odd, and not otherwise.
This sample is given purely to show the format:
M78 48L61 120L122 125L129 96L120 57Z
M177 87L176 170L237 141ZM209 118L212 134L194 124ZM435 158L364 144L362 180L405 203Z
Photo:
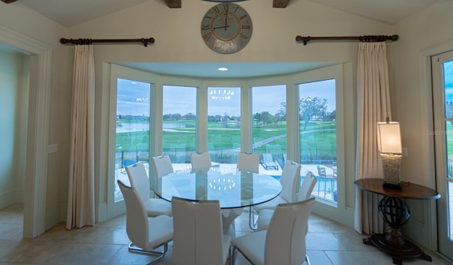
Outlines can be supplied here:
M439 252L453 259L453 51L431 58Z

